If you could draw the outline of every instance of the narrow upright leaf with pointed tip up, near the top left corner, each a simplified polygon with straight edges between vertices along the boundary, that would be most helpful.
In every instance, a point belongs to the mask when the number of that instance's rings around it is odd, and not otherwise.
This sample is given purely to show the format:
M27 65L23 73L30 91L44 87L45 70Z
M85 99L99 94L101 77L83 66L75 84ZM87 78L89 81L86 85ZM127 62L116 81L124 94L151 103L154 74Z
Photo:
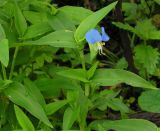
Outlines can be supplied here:
M19 36L22 37L27 29L27 22L17 3L15 3L14 23Z

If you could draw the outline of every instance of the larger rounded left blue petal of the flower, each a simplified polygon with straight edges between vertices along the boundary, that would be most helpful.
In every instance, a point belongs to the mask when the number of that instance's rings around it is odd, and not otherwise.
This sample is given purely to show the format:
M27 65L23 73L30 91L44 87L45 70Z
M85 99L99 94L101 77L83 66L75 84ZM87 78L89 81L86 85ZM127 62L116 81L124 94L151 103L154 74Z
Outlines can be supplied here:
M95 44L102 41L101 34L96 29L89 30L85 37L89 44Z

